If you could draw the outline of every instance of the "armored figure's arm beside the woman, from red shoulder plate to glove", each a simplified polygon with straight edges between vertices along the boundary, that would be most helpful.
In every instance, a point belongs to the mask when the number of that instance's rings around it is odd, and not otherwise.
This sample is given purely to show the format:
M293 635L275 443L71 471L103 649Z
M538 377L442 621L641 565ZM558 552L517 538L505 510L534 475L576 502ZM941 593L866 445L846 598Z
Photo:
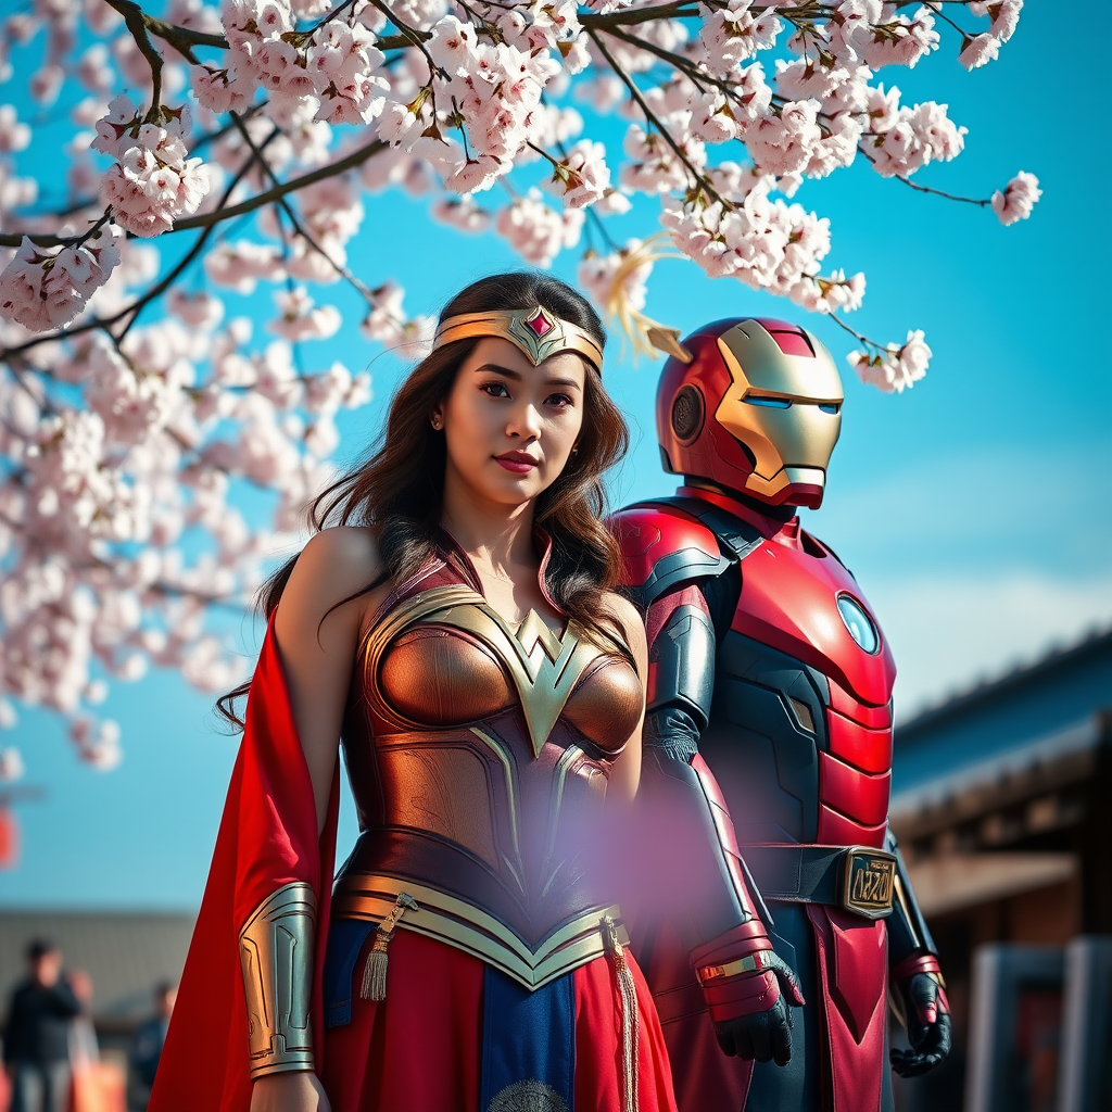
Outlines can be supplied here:
M697 584L728 570L732 560L709 529L673 510L627 510L615 532L648 639L641 800L661 887L671 894L666 913L691 954L723 1050L785 1063L787 1002L803 997L795 974L773 952L767 910L698 752L714 693L716 635Z

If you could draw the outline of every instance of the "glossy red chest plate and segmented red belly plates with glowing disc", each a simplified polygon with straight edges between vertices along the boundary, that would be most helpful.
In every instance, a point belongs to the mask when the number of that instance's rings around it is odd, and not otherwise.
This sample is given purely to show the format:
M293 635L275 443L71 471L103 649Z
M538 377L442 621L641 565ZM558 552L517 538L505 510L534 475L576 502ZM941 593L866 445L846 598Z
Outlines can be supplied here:
M850 607L856 605L871 619L877 643L873 652L854 639L838 608L840 598L847 598ZM853 576L812 537L786 528L777 538L758 544L742 563L742 590L731 629L826 678L826 744L816 753L815 841L882 846L892 782L890 699L895 664ZM806 727L806 716L796 716ZM820 731L815 736L821 741Z

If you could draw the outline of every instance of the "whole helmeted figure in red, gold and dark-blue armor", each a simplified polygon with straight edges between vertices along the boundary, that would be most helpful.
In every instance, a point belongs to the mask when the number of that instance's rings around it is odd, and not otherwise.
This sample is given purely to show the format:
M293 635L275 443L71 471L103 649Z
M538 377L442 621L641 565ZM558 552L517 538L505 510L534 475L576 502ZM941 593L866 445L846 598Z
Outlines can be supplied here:
M701 328L657 395L664 467L684 484L613 523L649 644L642 793L679 893L632 933L682 1112L891 1109L890 989L912 1046L893 1068L949 1050L934 943L886 822L892 655L796 516L822 502L842 400L810 332ZM752 941L764 927L806 999L790 1049L768 1011L790 982Z

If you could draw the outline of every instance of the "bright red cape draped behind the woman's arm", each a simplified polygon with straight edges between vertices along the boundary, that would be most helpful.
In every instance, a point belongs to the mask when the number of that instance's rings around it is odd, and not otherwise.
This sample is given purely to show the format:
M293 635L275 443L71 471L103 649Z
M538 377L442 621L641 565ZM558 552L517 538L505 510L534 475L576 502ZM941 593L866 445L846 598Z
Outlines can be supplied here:
M148 1112L247 1112L251 1081L239 931L270 893L294 881L312 885L317 896L312 1020L319 1069L338 785L337 762L318 835L309 768L271 623L251 678L244 739Z

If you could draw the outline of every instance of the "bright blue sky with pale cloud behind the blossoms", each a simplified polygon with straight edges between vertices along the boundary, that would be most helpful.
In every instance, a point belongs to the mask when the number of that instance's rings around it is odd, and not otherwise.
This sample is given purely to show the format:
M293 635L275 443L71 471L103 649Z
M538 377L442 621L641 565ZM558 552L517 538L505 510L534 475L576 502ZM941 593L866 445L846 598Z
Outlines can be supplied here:
M853 568L892 641L897 717L1112 622L1112 379L1102 324L1110 167L1108 146L1096 141L1106 128L1103 77L1076 66L1068 83L1052 83L1060 70L1048 67L1045 47L1059 22L1052 6L1029 4L999 62L966 73L944 34L942 51L914 71L883 75L905 102L949 102L969 128L965 153L917 180L987 196L1029 170L1044 190L1030 220L1003 228L991 211L914 193L863 165L806 182L796 197L831 218L827 265L868 277L854 326L884 340L923 328L934 350L927 377L902 396L862 386L846 367L826 503L805 519ZM620 135L620 125L604 122L598 137L616 155ZM31 153L42 173L46 145ZM37 169L26 158L20 167ZM400 281L410 311L435 312L467 281L518 265L494 235L431 224L427 201L366 203L350 259L371 286ZM638 202L617 237L651 231L655 209ZM574 281L576 261L566 252L554 271ZM358 319L350 291L318 296ZM269 308L267 300L262 312ZM813 328L843 367L850 350L830 321L681 261L657 266L647 311L684 331L724 316L783 316ZM354 326L306 351L314 366L340 358L353 369L376 354ZM375 361L375 400L344 416L341 458L377 430L403 369L390 356ZM647 360L607 366L634 430L614 483L618 502L671 489L653 437L657 369ZM258 633L241 624L245 657ZM166 673L115 685L103 713L119 721L126 751L109 774L78 765L63 725L41 712L24 711L6 736L22 749L24 783L48 794L20 807L23 857L0 873L4 905L198 901L235 741L217 733L208 696ZM341 851L353 836L347 808Z

